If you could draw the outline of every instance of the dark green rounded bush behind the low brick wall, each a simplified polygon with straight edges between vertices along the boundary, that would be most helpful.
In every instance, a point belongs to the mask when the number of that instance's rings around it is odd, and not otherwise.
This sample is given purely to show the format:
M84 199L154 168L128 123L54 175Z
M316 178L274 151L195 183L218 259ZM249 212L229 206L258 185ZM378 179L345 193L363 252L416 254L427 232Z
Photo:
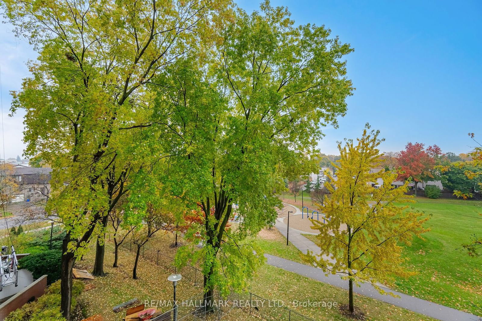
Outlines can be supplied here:
M21 269L32 272L35 279L47 274L47 283L60 279L62 251L52 250L27 255L18 261Z

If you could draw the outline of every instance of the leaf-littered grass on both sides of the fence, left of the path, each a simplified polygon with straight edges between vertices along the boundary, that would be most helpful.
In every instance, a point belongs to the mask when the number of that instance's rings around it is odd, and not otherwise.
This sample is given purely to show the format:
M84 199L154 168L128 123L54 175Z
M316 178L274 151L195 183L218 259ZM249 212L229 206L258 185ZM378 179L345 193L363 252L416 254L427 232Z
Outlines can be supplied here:
M152 244L153 248L160 247L165 254L174 255L175 249L169 245L172 243L172 235L163 234L158 237ZM286 240L275 229L265 233L260 233L256 242L267 252L281 257L291 258L299 257L299 251L293 246L286 246ZM78 261L77 266L92 270L94 263L94 248L91 248L84 260ZM84 315L101 314L106 320L121 320L125 315L125 310L119 313L112 312L112 307L128 301L134 297L143 300L170 300L172 298L172 284L168 282L167 276L172 273L169 267L170 262L160 262L157 266L152 257L148 257L147 252L145 258L140 257L138 267L138 280L132 279L132 266L134 262L134 253L128 249L121 249L119 252L119 268L111 267L113 260L113 245L106 242L105 254L105 270L108 273L106 277L95 278L96 287L92 290L84 292L78 301L83 308ZM160 259L161 261L161 259ZM179 282L177 295L179 300L185 300L194 295L198 295L202 291L201 286L194 286L192 276L188 275L188 271L181 271L183 281ZM348 321L339 309L335 306L328 307L294 307L294 301L307 302L330 302L337 304L346 304L348 301L348 292L334 286L317 282L312 279L299 276L295 273L281 270L269 265L263 266L257 273L257 276L251 282L250 291L265 299L282 300L282 304L288 308L292 308L298 313L306 315L314 320L336 320ZM240 298L249 299L249 295L241 295ZM254 298L253 298L254 299ZM399 321L416 321L416 320L433 320L416 314L414 312L397 308L392 305L367 298L361 295L355 295L356 305L366 314L366 320L399 320ZM281 308L269 308L265 305L264 310L259 309L259 313L267 311L278 312L284 311ZM165 308L168 310L168 308ZM227 321L245 321L245 320L281 320L281 317L275 319L258 318L247 314L246 309L233 308L222 320ZM81 320L81 317L77 320ZM77 321L76 320L76 321ZM292 314L292 320L295 319Z

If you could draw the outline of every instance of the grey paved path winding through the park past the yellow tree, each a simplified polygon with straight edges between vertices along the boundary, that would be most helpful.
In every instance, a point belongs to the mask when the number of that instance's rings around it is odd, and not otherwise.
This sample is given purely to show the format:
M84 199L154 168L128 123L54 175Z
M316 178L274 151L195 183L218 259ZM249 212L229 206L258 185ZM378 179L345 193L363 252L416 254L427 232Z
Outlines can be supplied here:
M293 210L293 215L300 215L301 211L293 205L285 204L286 207L290 206L289 210ZM275 224L276 228L281 232L281 234L286 237L287 226L283 223L283 220L279 218ZM295 245L301 252L307 253L310 250L316 254L320 253L320 248L308 240L306 237L301 235L302 231L292 229L290 227L289 231L289 241ZM306 233L306 232L303 232ZM325 276L323 271L319 268L315 268L306 264L301 264L298 262L290 261L281 257L275 257L273 255L265 254L268 259L268 264L283 270L291 271L296 274L306 276L313 280L328 283L336 287L348 290L348 281L341 280L339 275L329 274ZM428 317L442 320L442 321L482 321L481 318L474 314L470 314L464 311L460 311L454 308L449 308L442 306L437 303L433 303L427 300L419 299L414 296L406 295L400 292L393 291L381 284L378 284L386 292L391 292L394 295L399 295L400 297L393 297L390 295L381 295L378 291L371 285L367 283L361 284L360 287L354 287L353 291L355 293L372 297L374 299L387 302L394 306L405 308L410 311L414 311L420 314L424 314Z

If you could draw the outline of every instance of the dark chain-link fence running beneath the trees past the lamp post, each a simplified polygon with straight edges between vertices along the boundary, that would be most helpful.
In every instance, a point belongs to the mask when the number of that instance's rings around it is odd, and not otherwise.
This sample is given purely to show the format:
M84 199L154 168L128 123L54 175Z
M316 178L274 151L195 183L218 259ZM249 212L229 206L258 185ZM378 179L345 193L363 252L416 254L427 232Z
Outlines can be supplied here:
M121 248L128 251L137 251L137 245L132 242L123 242ZM183 280L188 280L195 287L202 290L203 274L198 268L187 265L182 269L177 269L174 265L174 257L162 253L161 250L149 248L143 245L140 255L162 266L173 273L180 273ZM185 281L183 281L185 282ZM259 320L266 321L314 321L305 317L289 308L282 306L281 301L268 300L251 292L231 293L227 297L221 297L214 294L214 310L209 313L205 312L203 307L204 294L195 295L192 298L183 301L177 306L177 320L174 320L174 308L170 311L153 319L153 321L215 321L221 320L223 316L232 312L233 308L239 309L240 313L248 313Z

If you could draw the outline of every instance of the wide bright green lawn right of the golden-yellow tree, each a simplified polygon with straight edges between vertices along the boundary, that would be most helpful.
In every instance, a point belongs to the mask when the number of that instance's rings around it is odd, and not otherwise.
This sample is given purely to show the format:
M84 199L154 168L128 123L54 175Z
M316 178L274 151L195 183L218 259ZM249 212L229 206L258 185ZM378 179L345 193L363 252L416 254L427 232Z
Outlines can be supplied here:
M455 199L415 198L412 206L426 215L431 230L424 240L414 239L403 254L406 265L417 272L398 280L394 290L433 301L444 306L482 315L482 257L469 257L460 250L470 242L470 235L482 233L482 202ZM303 234L311 241L314 235Z

